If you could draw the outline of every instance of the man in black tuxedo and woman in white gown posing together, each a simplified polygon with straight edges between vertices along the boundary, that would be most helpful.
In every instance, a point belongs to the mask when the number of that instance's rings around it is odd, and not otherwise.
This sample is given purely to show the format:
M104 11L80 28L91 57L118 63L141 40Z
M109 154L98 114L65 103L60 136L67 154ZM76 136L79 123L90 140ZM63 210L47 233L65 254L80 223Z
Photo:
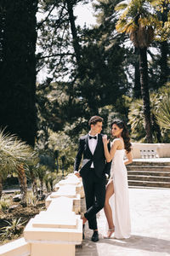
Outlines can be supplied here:
M96 214L103 207L108 225L105 238L111 238L113 233L117 239L128 238L131 230L125 167L132 162L130 138L124 123L115 120L111 124L111 133L116 138L109 147L107 136L100 134L102 123L103 119L99 116L89 119L90 131L79 140L74 165L75 175L82 177L86 197L87 212L82 218L83 236L84 224L88 221L89 229L94 230L92 241L99 241ZM123 160L124 152L127 160ZM78 172L81 160L82 168ZM106 189L105 173L110 176Z

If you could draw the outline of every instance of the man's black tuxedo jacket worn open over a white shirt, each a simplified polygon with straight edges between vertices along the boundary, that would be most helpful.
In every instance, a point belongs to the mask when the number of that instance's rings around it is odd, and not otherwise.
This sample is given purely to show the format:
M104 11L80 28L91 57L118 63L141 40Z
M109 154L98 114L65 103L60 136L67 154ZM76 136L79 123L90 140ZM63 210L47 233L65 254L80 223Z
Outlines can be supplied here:
M102 177L103 173L107 173L108 175L110 175L111 162L107 163L105 160L105 151L102 136L103 135L98 134L98 142L94 150L94 154L92 154L88 146L89 135L87 134L79 139L79 146L75 159L74 171L78 171L82 160L82 167L80 170L81 177L86 177L88 175L88 170L91 167L92 162L94 162L94 172L98 177Z

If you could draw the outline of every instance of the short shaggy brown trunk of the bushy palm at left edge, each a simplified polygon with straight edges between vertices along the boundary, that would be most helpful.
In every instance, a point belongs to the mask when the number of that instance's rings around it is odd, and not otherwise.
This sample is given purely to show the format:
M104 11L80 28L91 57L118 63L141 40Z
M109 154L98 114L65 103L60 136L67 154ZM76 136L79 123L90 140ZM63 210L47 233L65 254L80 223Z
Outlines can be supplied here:
M20 192L23 195L23 206L26 207L26 195L27 195L27 180L26 180L26 172L23 165L18 167L18 176L20 180Z

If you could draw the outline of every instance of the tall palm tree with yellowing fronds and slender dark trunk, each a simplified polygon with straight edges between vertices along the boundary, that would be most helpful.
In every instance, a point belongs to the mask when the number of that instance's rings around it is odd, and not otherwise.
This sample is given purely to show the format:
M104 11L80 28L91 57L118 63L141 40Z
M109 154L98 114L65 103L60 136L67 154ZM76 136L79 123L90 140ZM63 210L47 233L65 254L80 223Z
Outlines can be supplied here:
M150 12L151 5L146 0L132 0L130 3L118 3L116 10L123 10L116 23L117 32L125 32L130 36L134 47L139 49L139 71L141 95L144 105L144 123L148 143L152 143L150 121L150 94L148 86L147 48L154 40L154 31L160 22Z

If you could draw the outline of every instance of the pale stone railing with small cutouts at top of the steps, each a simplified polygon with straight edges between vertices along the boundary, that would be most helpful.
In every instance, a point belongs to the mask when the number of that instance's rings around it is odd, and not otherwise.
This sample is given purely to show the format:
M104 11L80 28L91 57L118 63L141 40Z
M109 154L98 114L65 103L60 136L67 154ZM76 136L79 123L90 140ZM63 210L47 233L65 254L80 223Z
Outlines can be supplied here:
M132 143L133 159L170 158L170 143Z

